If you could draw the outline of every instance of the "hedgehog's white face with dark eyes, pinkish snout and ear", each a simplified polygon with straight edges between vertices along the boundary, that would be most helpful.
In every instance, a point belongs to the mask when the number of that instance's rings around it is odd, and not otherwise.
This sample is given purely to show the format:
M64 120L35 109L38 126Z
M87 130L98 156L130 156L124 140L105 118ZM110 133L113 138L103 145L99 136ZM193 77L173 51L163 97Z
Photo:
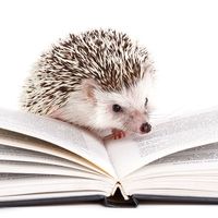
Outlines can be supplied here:
M134 86L121 92L104 92L95 83L85 84L86 96L94 107L96 129L119 129L134 133L150 131L150 80L140 80Z

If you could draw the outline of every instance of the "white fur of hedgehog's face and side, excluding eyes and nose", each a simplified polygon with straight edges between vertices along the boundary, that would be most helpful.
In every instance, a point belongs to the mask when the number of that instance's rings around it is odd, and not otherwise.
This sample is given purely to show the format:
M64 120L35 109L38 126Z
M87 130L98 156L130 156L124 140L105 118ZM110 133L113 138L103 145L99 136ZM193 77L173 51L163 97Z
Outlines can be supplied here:
M141 125L148 121L152 87L153 77L148 74L135 86L119 93L102 92L95 87L94 98L90 98L84 90L73 92L68 104L53 117L99 131L120 129L140 133ZM119 105L122 112L114 112L113 105Z

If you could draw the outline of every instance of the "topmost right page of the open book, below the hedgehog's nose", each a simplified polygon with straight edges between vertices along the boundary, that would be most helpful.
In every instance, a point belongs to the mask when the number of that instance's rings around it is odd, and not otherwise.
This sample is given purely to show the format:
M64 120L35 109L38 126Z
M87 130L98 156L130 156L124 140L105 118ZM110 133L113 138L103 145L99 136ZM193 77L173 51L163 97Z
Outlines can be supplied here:
M167 155L218 142L218 109L198 112L153 126L145 136L107 142L120 178Z

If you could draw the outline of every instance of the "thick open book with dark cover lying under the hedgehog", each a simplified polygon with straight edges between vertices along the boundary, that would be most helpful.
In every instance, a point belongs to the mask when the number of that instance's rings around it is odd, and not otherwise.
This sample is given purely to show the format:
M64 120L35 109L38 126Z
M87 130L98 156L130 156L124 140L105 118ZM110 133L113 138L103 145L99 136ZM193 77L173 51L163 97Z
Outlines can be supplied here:
M218 109L101 142L46 117L0 110L0 206L218 202Z

